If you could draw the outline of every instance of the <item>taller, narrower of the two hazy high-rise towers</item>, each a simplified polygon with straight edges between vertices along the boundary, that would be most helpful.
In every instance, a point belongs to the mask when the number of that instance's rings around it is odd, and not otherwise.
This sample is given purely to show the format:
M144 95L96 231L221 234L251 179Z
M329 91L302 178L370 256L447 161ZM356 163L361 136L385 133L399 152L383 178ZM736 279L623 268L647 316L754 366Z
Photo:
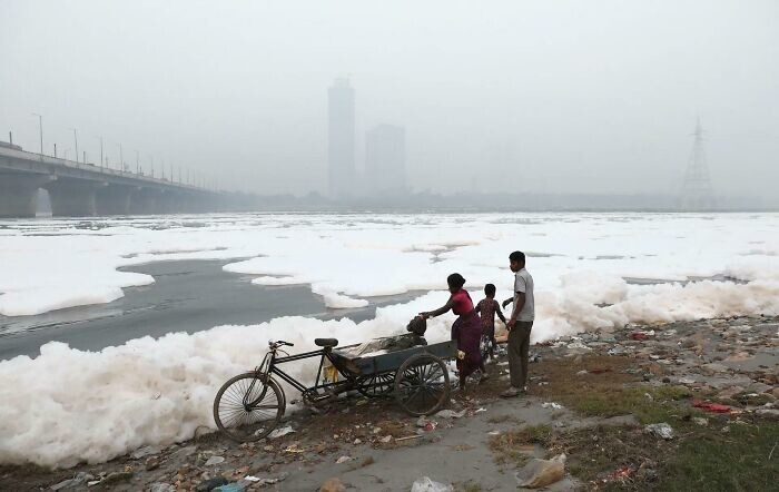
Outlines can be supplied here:
M336 79L327 92L327 166L331 198L347 198L356 186L354 166L354 89Z

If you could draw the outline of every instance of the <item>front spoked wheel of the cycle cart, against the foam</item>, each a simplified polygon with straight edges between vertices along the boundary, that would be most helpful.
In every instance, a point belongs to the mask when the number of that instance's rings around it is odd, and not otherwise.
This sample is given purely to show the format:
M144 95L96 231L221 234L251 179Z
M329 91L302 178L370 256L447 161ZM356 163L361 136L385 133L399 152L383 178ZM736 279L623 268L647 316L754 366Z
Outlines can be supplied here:
M217 392L214 421L234 441L257 441L276 429L285 406L284 392L274 380L255 372L238 374Z

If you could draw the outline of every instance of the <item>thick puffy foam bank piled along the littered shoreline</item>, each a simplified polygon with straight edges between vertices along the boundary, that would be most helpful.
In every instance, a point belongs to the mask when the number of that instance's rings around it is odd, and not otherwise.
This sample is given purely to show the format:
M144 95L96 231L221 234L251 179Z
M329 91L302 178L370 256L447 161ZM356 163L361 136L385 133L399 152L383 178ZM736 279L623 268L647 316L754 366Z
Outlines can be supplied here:
M610 329L632 322L689 321L743 314L779 314L779 284L701 282L627 288L617 304L599 307L581 301L580 288L539 298L532 341L590 328ZM119 347L82 352L62 343L41 347L40 356L0 363L0 463L72 466L99 463L144 445L167 445L215 429L211 405L218 387L252 370L268 340L295 343L290 353L315 350L314 337L341 345L404 333L416 313L438 307L446 292L378 308L359 324L344 318L283 317L254 326L219 326L196 334L144 337ZM476 297L476 293L472 292ZM454 316L428 322L426 337L448 340ZM312 383L317 360L292 363L289 374ZM288 398L296 392L285 387Z

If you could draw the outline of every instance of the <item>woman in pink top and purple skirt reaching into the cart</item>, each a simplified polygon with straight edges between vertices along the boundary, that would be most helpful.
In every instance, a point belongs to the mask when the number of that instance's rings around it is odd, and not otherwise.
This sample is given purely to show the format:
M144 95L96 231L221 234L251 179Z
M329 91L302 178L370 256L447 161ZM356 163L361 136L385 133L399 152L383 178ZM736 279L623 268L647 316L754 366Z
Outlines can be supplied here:
M452 325L452 340L457 341L457 350L465 353L462 358L457 357L457 371L460 372L460 388L465 388L465 378L476 370L482 370L482 377L485 378L482 365L482 354L479 351L479 342L482 337L482 324L479 314L473 308L473 301L467 291L463 288L465 278L460 274L452 274L446 278L448 292L452 296L443 307L435 311L420 313L423 319L440 316L450 309L460 316Z

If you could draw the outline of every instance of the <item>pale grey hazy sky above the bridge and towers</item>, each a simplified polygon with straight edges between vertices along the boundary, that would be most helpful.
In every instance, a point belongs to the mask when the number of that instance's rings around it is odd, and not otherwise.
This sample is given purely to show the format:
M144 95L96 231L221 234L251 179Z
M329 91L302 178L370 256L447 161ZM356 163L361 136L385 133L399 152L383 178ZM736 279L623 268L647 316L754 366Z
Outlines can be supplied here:
M0 0L0 139L324 191L327 87L357 164L406 127L414 189L676 193L700 116L724 194L779 183L779 1ZM61 152L61 150L60 150ZM70 150L72 156L72 150Z

